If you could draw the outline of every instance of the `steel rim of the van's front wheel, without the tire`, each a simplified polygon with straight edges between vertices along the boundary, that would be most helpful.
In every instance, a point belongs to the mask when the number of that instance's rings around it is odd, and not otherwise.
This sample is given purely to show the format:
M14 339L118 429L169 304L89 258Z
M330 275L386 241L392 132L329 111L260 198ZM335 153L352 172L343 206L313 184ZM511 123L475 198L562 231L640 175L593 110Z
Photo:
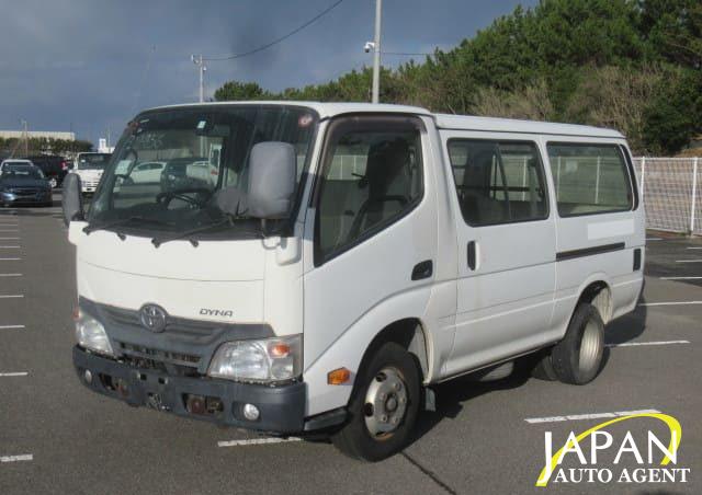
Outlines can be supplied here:
M407 413L407 383L396 368L381 369L365 393L365 427L372 437L390 436L397 430Z

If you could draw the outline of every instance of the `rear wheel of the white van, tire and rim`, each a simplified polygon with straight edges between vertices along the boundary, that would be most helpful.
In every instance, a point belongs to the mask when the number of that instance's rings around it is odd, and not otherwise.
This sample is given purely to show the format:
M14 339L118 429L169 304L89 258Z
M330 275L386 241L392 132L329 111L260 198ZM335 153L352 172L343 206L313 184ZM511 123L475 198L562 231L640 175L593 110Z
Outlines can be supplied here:
M604 323L591 304L579 304L566 335L551 352L555 377L563 383L582 385L599 375L604 357Z

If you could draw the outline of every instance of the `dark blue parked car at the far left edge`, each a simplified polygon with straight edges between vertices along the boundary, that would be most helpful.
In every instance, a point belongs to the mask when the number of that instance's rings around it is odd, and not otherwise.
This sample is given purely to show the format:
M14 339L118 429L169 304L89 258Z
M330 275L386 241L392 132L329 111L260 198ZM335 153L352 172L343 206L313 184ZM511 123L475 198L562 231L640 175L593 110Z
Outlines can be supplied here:
M26 160L0 164L0 205L52 206L52 186L42 169Z

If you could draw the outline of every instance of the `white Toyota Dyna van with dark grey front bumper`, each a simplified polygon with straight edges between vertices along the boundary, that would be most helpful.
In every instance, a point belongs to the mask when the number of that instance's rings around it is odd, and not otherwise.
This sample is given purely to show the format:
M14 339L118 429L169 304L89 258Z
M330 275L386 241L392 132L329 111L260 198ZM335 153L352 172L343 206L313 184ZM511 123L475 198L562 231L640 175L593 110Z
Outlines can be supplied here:
M410 441L432 384L526 356L590 382L643 285L644 208L609 129L179 105L128 124L89 209L66 182L87 388L370 461Z

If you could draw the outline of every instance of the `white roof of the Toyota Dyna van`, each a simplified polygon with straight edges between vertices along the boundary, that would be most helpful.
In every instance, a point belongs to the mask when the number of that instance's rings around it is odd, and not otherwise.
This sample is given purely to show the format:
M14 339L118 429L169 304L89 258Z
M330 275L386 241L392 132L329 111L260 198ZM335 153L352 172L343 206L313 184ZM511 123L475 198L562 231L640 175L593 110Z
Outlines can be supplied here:
M296 101L252 101L252 102L207 102L186 103L182 105L160 106L151 110L190 107L190 106L236 106L236 105L294 105L314 110L321 118L353 113L396 113L426 115L434 118L437 127L455 130L478 130L496 133L546 134L558 136L587 136L601 138L619 138L624 136L618 130L602 127L581 126L575 124L555 124L539 120L520 120L514 118L475 117L464 115L433 114L427 108L407 105L372 104L372 103L321 103Z

